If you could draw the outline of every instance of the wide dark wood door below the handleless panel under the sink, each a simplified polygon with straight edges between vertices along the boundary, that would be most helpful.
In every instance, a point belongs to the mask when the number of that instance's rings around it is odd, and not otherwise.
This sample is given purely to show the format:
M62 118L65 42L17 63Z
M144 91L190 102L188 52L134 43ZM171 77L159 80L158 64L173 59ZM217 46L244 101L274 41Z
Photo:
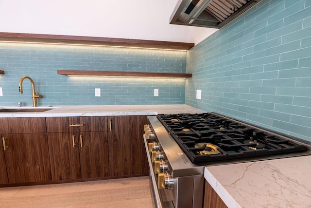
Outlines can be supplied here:
M46 133L3 134L9 183L51 181Z

